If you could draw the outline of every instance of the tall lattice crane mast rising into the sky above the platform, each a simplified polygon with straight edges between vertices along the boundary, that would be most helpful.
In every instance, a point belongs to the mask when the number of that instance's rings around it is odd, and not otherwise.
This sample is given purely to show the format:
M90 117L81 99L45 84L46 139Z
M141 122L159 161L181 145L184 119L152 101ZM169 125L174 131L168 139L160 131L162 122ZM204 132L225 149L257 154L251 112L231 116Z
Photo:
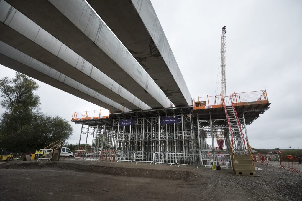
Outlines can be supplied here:
M221 96L226 96L226 26L221 33Z

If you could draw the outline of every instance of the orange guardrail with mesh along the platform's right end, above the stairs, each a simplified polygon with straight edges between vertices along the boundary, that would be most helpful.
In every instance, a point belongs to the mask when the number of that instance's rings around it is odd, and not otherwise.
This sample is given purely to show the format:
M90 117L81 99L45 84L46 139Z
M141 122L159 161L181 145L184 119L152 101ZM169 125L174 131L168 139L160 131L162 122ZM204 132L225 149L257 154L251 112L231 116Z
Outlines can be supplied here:
M231 105L231 99L234 105L240 104L257 104L263 101L268 103L266 90L232 93L230 96L223 97L226 105ZM220 95L204 96L193 99L194 109L218 108L223 107L223 102Z

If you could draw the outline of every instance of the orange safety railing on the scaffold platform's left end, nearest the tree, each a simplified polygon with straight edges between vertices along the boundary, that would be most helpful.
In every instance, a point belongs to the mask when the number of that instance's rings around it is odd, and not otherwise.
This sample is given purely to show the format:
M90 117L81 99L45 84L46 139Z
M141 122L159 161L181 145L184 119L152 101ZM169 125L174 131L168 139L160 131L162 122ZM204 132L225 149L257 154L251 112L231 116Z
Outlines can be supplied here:
M77 120L86 120L86 119L99 119L99 118L106 118L109 117L109 110L106 109L99 109L99 110L92 110L92 111L82 111L82 112L73 112L71 121Z

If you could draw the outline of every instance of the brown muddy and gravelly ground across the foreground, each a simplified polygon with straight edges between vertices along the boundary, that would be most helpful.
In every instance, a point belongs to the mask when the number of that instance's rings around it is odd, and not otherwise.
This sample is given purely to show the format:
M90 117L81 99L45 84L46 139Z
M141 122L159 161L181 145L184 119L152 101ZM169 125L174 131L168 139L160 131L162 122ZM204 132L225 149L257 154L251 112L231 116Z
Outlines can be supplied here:
M126 162L0 164L0 200L302 200L302 174L257 165L259 177L232 170Z

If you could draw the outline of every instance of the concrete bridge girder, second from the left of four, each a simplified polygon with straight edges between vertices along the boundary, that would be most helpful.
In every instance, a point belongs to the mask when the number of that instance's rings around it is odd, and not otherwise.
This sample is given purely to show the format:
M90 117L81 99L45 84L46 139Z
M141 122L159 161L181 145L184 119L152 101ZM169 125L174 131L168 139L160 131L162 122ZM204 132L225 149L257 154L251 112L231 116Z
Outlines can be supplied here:
M3 23L0 24L2 30L0 40L130 110L150 109L148 105L29 18L15 9L10 11L9 4L0 2L0 5L0 21Z

